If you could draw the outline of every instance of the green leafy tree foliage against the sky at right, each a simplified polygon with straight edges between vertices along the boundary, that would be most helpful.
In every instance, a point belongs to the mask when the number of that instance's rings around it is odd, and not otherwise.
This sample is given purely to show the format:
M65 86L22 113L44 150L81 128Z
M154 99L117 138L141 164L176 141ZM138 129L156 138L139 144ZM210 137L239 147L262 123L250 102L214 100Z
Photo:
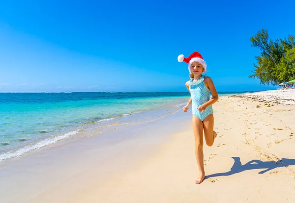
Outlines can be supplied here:
M278 85L295 79L295 36L271 40L266 29L251 37L252 47L260 49L255 56L255 71L249 78L259 78L260 84Z

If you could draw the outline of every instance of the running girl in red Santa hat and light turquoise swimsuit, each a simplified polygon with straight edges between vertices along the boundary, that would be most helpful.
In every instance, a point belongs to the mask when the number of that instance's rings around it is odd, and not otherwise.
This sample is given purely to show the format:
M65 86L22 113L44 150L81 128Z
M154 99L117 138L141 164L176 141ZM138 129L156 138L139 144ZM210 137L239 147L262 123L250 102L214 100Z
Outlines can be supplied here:
M214 118L211 105L218 100L218 94L211 78L202 75L202 73L206 71L207 64L198 52L194 52L189 56L189 58L184 58L183 55L179 55L178 61L187 62L188 70L190 72L190 81L186 82L185 86L189 90L191 97L187 105L184 106L182 110L187 112L192 104L195 153L200 172L199 177L195 180L195 183L200 184L205 178L203 130L206 144L208 146L212 146L217 133L213 131ZM211 92L212 95L211 99L209 92Z

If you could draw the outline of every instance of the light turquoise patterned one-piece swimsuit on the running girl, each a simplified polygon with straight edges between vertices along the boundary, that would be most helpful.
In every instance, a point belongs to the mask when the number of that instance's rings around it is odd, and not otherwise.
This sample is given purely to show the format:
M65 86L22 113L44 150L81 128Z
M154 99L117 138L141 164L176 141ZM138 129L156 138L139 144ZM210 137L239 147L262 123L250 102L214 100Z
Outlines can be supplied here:
M201 121L203 121L208 115L213 114L212 106L208 106L203 113L198 110L200 105L204 104L210 99L210 90L204 83L204 76L202 76L200 80L190 81L189 89L193 102L193 115L197 116Z

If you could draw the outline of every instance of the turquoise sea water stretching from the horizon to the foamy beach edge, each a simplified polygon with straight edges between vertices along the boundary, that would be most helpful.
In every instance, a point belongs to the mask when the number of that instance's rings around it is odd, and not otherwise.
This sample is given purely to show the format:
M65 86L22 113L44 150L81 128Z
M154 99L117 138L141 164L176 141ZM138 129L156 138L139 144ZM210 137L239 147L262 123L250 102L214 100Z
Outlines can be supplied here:
M0 93L0 160L71 138L83 124L161 109L188 98L188 92Z

